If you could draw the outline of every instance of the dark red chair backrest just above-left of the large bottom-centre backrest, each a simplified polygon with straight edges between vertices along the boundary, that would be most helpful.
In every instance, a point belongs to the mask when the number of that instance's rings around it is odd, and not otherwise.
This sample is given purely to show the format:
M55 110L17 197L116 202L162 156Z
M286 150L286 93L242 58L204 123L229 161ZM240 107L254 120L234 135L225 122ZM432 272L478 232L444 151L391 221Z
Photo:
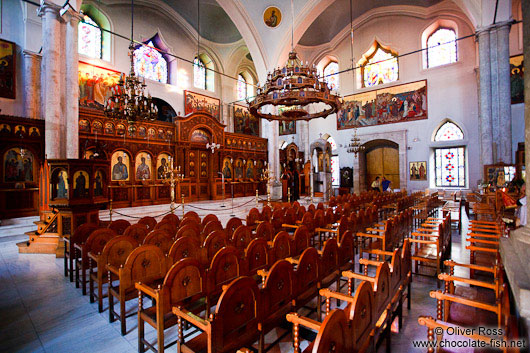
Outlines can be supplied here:
M222 286L241 275L239 252L232 246L219 250L206 273L206 290L209 295L221 292Z

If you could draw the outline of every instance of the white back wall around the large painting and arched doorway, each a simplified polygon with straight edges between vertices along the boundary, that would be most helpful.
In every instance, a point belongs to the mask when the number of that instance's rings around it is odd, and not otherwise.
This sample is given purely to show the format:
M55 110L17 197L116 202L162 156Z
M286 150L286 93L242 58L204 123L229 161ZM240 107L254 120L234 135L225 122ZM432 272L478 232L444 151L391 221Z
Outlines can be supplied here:
M472 28L463 20L456 17L449 18L458 25L458 36L466 36L473 33ZM417 17L394 15L391 17L379 17L362 24L354 30L354 62L358 62L372 45L374 39L383 45L389 45L393 50L403 54L421 48L422 31L429 26L434 19L421 19ZM305 49L305 53L311 54ZM319 57L312 53L312 57ZM349 38L342 40L331 52L326 52L339 59L341 70L350 65L350 42ZM477 180L481 178L479 160L478 140L478 101L477 101L477 79L475 75L475 41L469 38L458 42L458 62L442 67L423 69L421 53L402 57L399 59L399 80L392 84L404 84L408 82L427 80L427 102L428 119L406 123L380 125L375 127L363 127L358 130L359 135L371 133L384 133L398 130L407 130L407 166L411 161L427 161L429 173L433 173L431 156L431 137L435 129L446 118L459 124L466 136L468 151L468 185L475 187ZM341 94L343 96L366 91L356 87L351 72L341 74ZM388 85L381 85L386 87ZM319 133L329 133L333 136L339 147L341 167L353 165L353 154L346 152L346 145L353 134L353 130L337 131L335 115L326 120L318 119L311 121L309 139L314 141ZM413 142L417 138L418 142ZM433 185L432 185L433 186ZM429 181L407 181L407 189L421 190L429 187Z

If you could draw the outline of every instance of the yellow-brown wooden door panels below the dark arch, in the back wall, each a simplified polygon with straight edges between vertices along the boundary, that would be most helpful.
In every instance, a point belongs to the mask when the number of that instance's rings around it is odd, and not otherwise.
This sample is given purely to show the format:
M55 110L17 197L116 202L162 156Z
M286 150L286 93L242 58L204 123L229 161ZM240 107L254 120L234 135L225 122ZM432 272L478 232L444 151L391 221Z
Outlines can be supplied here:
M391 181L392 189L399 189L399 152L393 147L374 148L366 153L366 186L370 189L375 177Z

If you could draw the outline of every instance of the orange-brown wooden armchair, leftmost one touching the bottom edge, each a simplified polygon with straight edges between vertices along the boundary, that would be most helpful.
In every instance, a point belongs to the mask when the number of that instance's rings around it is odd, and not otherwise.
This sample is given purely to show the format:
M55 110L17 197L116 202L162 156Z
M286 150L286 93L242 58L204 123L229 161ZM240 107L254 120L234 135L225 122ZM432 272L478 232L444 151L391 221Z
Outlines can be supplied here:
M160 287L152 288L139 282L135 287L138 290L138 352L143 353L147 346L155 352L163 353L166 348L177 343L175 341L166 344L164 339L164 330L178 322L172 308L185 307L192 312L200 310L197 308L201 307L201 298L204 297L204 272L196 259L186 258L179 260L169 269ZM144 309L144 296L152 298L154 305ZM145 322L156 329L158 349L154 343L145 339Z

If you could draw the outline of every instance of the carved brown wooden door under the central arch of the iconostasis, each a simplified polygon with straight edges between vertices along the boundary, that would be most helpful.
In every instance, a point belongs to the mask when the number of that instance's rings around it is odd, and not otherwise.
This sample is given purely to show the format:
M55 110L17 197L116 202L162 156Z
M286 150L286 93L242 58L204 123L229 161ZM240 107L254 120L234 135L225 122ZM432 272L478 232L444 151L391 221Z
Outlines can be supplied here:
M190 179L192 184L195 184L195 188L192 185L191 189L192 194L195 194L198 200L211 200L210 157L211 153L207 150L196 149L189 152Z

